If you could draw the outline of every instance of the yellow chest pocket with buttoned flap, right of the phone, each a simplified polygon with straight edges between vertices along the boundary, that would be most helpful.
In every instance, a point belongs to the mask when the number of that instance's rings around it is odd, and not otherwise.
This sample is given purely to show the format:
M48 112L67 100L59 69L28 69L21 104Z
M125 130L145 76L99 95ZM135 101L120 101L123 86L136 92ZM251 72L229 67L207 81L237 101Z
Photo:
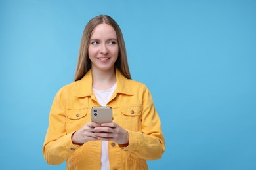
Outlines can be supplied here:
M123 127L131 131L140 131L141 130L141 112L142 112L142 107L121 108Z

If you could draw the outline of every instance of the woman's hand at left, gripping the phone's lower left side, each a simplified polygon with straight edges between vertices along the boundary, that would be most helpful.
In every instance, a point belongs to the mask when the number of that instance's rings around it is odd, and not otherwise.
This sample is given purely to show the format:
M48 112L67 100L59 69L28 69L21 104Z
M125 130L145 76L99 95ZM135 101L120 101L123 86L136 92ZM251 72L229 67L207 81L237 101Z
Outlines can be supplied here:
M95 127L100 127L100 124L96 124L95 122L88 122L78 131L72 135L72 143L73 144L83 144L88 141L98 140L98 137L95 135Z

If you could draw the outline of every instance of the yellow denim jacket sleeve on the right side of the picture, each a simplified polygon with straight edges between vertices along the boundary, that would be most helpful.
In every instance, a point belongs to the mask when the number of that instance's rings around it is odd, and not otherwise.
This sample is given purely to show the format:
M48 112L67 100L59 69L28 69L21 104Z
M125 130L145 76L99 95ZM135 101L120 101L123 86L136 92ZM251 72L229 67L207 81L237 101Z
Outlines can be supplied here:
M161 122L154 107L152 96L144 86L142 99L141 131L128 131L129 145L121 150L130 152L133 156L145 160L161 158L165 151L165 141L161 131ZM121 145L119 145L121 146Z

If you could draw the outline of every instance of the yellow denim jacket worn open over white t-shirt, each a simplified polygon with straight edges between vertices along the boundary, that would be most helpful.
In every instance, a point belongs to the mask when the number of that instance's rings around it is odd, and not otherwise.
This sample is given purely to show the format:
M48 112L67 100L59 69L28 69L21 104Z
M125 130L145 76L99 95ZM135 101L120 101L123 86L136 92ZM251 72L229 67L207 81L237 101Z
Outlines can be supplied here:
M148 88L128 80L116 69L117 88L108 106L113 122L129 133L129 145L108 142L110 169L148 169L146 160L161 158L165 143L161 122ZM99 106L93 94L91 70L76 82L61 88L49 114L49 127L43 144L47 163L66 161L66 169L100 169L101 141L74 145L72 134L91 122L91 107Z

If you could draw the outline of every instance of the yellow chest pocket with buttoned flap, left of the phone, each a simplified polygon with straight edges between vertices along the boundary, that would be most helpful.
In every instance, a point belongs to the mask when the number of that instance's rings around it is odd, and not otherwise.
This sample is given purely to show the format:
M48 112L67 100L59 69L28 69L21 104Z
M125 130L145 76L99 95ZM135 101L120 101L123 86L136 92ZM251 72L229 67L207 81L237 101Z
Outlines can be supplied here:
M77 131L88 122L87 109L67 110L66 131L71 133Z

